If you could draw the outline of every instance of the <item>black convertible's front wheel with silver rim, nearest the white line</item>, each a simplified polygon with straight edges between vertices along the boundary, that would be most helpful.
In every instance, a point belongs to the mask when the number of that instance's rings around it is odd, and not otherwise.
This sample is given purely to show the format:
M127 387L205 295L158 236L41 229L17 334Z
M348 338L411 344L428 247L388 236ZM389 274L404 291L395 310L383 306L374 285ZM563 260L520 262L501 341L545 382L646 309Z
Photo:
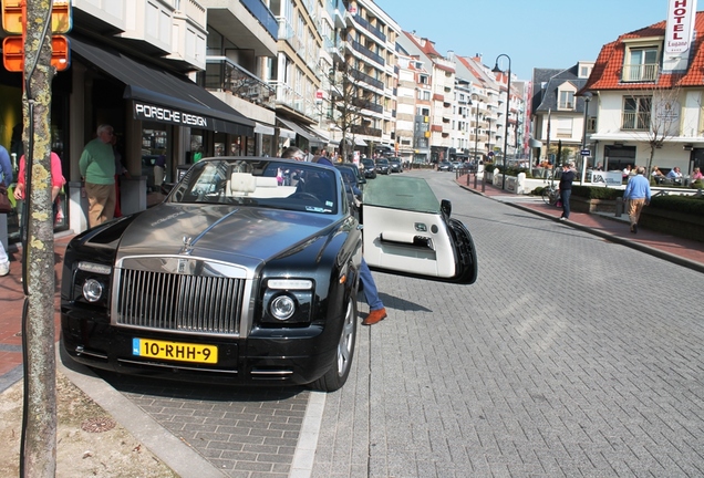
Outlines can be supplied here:
M344 322L340 331L335 358L330 370L310 387L320 392L335 392L344 385L352 368L354 357L354 344L356 341L356 297L348 299L348 306L344 312Z

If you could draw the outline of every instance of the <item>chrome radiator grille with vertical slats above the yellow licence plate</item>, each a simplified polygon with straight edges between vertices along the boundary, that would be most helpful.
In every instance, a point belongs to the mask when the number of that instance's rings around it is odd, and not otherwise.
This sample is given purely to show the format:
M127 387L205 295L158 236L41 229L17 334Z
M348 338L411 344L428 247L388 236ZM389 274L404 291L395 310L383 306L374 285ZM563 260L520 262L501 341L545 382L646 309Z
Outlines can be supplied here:
M122 269L117 284L118 324L239 334L244 279Z

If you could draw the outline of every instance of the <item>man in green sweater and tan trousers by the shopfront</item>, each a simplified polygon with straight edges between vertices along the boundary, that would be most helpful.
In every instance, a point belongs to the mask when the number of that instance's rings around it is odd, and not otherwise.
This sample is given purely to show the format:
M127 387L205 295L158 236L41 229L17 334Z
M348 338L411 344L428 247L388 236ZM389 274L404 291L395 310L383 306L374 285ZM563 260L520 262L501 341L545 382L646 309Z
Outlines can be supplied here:
M89 226L94 227L115 214L115 154L113 127L100 125L97 137L85 145L79 167L89 199Z

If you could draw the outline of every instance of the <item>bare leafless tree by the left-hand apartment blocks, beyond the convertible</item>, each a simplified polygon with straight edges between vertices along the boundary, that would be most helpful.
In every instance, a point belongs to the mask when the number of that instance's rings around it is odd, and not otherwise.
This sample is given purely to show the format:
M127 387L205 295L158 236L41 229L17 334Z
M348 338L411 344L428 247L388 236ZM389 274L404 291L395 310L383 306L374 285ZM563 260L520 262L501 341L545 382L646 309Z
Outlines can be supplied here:
M340 155L343 160L346 160L348 155L354 149L356 133L369 129L363 125L366 118L363 110L377 106L373 102L373 93L358 83L362 75L364 73L354 69L349 62L335 64L330 72L329 121L342 132Z

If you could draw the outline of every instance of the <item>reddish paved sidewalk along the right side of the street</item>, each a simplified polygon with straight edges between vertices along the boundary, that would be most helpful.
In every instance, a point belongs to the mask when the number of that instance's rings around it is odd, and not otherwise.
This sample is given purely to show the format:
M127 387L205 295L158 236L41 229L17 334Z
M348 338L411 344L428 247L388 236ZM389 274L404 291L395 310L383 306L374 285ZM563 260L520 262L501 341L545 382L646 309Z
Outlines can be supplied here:
M549 206L545 204L542 199L535 196L518 196L504 191L490 184L485 185L483 193L480 181L476 189L474 188L473 181L467 186L467 176L460 176L456 181L463 189L499 200L545 218L559 220L562 215L561 208ZM612 214L594 215L571 212L569 220L566 220L563 224L666 261L704 272L704 242L682 239L643 228L640 228L636 235L632 233L629 228L629 218L625 214L621 217L615 217Z

